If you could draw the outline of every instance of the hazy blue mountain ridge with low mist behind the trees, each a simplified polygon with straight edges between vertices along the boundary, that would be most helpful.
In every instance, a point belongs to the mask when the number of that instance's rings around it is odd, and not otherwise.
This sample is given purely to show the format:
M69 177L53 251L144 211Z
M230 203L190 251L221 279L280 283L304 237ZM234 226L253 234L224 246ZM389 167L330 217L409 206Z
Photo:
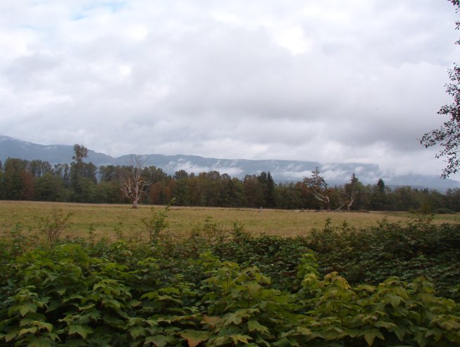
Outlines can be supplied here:
M13 139L0 135L0 160L2 163L10 158L26 160L46 160L51 164L70 163L73 156L73 146L42 145ZM88 158L94 165L128 165L130 155L113 158L104 153L88 151ZM380 170L376 164L361 163L317 163L299 160L246 160L246 159L218 159L201 156L163 154L143 155L146 165L154 165L164 172L173 175L178 170L187 172L209 172L216 170L221 174L227 173L232 177L242 178L244 175L259 175L262 171L270 171L275 182L299 181L311 175L311 171L318 167L321 175L328 184L344 184L354 172L364 184L375 184L382 178L387 186L411 186L419 188L437 189L445 191L448 188L459 188L460 182L453 179L440 179L435 175L404 175L395 176Z

